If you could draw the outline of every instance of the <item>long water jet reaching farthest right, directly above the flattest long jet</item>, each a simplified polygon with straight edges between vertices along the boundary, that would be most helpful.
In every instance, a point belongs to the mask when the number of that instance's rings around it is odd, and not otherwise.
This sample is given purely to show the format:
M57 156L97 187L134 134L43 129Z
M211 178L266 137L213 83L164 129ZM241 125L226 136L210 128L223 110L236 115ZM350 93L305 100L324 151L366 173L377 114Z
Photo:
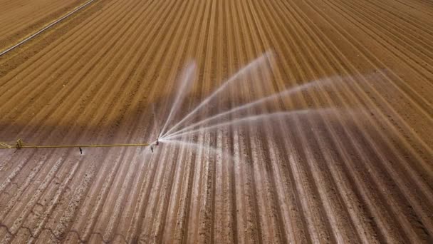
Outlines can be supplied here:
M257 105L259 105L261 103L266 103L267 101L272 101L273 99L278 98L278 97L289 96L289 95L291 95L293 93L296 93L298 91L302 91L302 90L305 90L307 88L311 88L311 87L317 85L318 83L323 83L323 85L325 85L325 84L330 83L330 81L333 81L333 78L325 78L325 79L320 79L320 80L316 80L316 81L311 81L311 82L302 84L301 86L296 86L296 87L293 87L293 88L286 89L286 90L281 91L279 93L275 93L275 94L272 94L270 96L266 96L264 98L260 98L259 100L252 101L251 103L246 103L246 104L244 104L242 106L239 106L239 107L236 107L236 108L232 108L229 111L225 111L223 113L218 113L218 114L216 114L216 115L214 115L214 116L212 116L210 118L206 118L206 119L204 119L202 121L199 121L197 123L193 123L192 125L187 126L185 128L182 128L181 130L176 131L174 133L171 133L171 134L169 134L167 136L174 136L177 133L182 133L183 131L187 131L190 128L194 128L194 127L200 126L200 125L202 125L204 123L208 123L209 121L213 121L213 120L215 120L217 118L221 118L221 117L226 116L226 115L228 115L230 113L235 113L235 112L247 109L247 108L252 108L252 107L257 106Z

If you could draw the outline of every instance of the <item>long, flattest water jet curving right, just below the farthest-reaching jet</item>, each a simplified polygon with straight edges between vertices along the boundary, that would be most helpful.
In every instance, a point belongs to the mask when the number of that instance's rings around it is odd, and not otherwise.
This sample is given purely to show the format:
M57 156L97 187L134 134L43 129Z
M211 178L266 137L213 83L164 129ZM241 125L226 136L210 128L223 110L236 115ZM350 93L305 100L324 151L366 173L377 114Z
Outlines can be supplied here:
M263 114L254 115L254 116L247 116L245 118L237 118L237 119L234 119L233 121L218 123L218 124L213 125L213 126L207 126L207 127L199 128L199 129L192 130L192 131L186 131L184 133L179 133L179 134L176 134L173 136L167 136L164 139L165 140L171 140L172 138L177 138L179 136L184 136L184 135L196 133L199 131L207 131L207 130L211 130L213 128L219 128L222 126L235 126L235 125L238 125L241 123L246 123L246 122L251 122L251 121L260 121L260 120L263 120L265 118L273 118L273 117L279 117L279 116L300 116L300 115L308 115L311 113L330 113L332 111L335 112L336 109L335 108L318 108L318 109L302 109L302 110L296 110L296 111L285 111L285 112L276 112L276 113L263 113Z

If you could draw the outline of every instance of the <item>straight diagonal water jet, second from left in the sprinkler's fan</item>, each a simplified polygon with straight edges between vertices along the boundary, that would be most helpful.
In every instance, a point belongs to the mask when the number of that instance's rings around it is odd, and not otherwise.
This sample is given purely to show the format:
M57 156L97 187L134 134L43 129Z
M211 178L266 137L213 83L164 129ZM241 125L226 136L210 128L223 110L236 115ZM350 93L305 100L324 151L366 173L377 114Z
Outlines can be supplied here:
M231 76L228 80L226 80L223 83L222 86L220 86L218 89L216 89L216 91L214 91L214 93L212 93L210 96L208 96L206 99L204 99L204 101L202 101L202 103L200 103L199 106L197 106L196 108L194 108L193 111L189 112L187 114L187 116L185 116L184 118L182 118L181 121L179 121L178 123L176 123L166 133L162 134L161 137L166 136L167 134L169 134L170 132L172 132L175 128L177 128L182 123L184 123L184 121L186 121L189 117L191 117L192 115L194 115L194 113L196 113L197 111L199 111L199 109L202 108L206 103L209 103L209 101L211 101L212 98L214 98L218 93L221 93L221 91L224 91L224 89L227 88L227 86L229 86L230 83L232 83L233 81L236 81L236 79L239 78L239 76L244 75L244 73L246 73L247 71L249 71L251 68L256 67L257 65L259 65L259 63L262 63L262 62L266 61L266 59L269 59L271 56L272 56L272 52L271 51L266 51L265 54L263 54L262 56L260 56L257 59L254 59L254 61L251 61L248 65L244 66L244 68L241 68L233 76Z

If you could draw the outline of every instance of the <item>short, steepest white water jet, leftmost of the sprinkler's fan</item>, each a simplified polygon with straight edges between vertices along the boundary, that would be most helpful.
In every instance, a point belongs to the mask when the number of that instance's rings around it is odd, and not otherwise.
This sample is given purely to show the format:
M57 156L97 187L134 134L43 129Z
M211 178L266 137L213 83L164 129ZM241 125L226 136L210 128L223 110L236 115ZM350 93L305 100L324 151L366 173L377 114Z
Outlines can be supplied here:
M177 108L179 108L179 106L182 104L182 101L183 101L184 97L186 96L187 91L189 90L189 88L192 85L192 81L194 81L192 76L194 75L195 69L196 69L196 63L194 61L192 61L187 65L186 70L182 74L182 83L179 86L179 90L177 91L176 98L174 99L172 109L170 110L168 118L165 121L165 124L162 127L161 133L158 137L161 137L161 135L164 133L165 128L167 128L172 117L177 112Z

